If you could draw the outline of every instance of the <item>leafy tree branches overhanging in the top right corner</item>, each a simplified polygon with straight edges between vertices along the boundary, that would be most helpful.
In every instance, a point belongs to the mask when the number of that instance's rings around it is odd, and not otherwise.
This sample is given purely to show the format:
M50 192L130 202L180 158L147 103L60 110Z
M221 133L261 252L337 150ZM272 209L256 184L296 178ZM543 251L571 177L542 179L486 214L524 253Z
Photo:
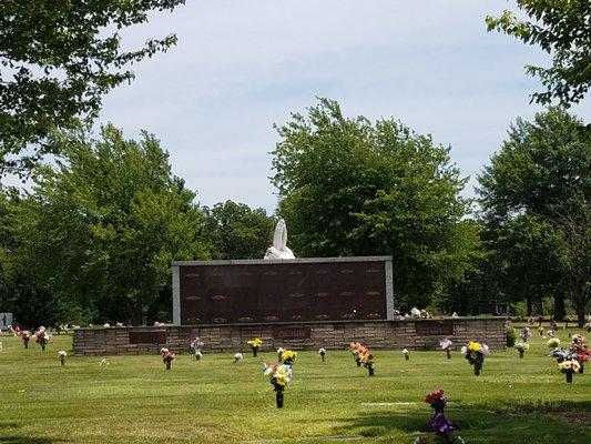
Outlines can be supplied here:
M519 20L506 10L499 18L487 17L488 30L503 31L552 56L552 67L527 65L546 91L532 101L548 104L558 99L569 107L581 101L591 85L591 2L589 0L517 0L530 19Z

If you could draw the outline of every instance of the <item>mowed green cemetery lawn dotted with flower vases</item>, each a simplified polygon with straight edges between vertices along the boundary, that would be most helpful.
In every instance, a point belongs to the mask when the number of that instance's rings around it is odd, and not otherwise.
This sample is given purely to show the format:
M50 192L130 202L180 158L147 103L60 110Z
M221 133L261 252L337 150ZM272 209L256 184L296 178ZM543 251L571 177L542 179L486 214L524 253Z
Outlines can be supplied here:
M0 443L323 443L343 435L411 443L428 435L425 394L444 389L446 414L467 443L589 444L591 376L585 369L567 384L533 330L523 360L514 350L492 353L478 377L459 352L451 361L411 352L405 361L400 351L377 351L374 377L347 351L328 351L324 363L299 352L283 410L246 347L240 364L232 354L177 355L165 371L159 355L108 356L100 367L102 357L71 355L69 335L53 336L45 352L4 335ZM563 343L567 332L559 332ZM70 353L63 367L59 350Z

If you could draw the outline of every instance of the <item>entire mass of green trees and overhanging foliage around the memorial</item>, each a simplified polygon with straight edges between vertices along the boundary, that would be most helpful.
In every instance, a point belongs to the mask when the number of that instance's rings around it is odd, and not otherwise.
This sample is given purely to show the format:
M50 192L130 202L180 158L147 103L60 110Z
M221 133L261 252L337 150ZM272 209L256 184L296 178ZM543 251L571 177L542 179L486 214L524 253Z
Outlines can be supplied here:
M549 107L518 119L478 176L477 199L450 147L395 119L346 117L319 99L276 125L275 214L232 201L206 208L149 133L89 130L101 98L133 78L115 31L182 0L0 6L0 169L30 189L0 190L0 311L24 324L171 317L173 260L262 258L276 218L297 256L391 254L396 303L478 314L496 303L583 322L591 289L591 127L570 114L591 83L589 2L521 0L531 20L487 18L552 54L527 67ZM33 24L34 23L34 24ZM65 42L68 42L65 44ZM49 154L49 158L48 158Z

